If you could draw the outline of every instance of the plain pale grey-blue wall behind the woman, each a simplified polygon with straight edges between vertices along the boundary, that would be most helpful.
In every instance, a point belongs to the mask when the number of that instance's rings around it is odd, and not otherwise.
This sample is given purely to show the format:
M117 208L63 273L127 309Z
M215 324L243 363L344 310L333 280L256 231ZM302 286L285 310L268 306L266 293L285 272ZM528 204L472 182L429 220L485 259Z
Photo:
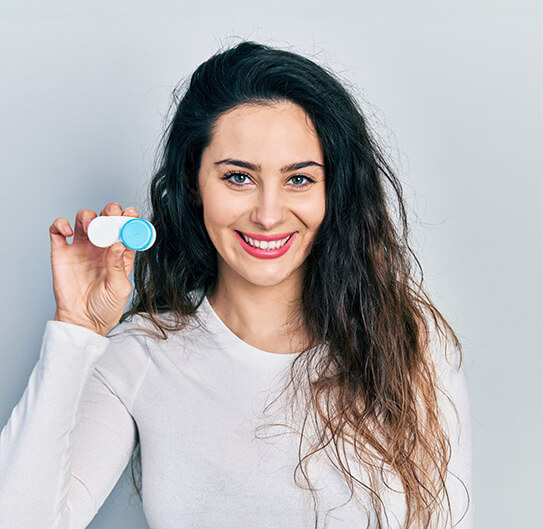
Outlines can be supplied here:
M55 310L49 225L109 201L143 211L172 89L254 39L332 67L363 100L424 284L464 345L476 527L541 527L540 4L36 0L0 16L0 426ZM125 472L89 527L145 528L129 487Z

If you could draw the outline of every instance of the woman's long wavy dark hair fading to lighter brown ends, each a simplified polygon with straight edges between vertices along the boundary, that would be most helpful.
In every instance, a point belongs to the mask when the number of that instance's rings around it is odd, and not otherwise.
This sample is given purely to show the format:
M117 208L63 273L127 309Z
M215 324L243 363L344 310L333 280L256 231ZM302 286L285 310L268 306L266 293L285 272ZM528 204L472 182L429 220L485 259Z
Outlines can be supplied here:
M174 89L175 112L149 187L147 218L156 243L136 254L133 297L120 321L139 314L152 323L153 336L166 339L196 317L218 276L217 250L199 200L202 151L224 112L284 101L312 120L326 174L326 213L304 263L299 309L312 347L296 357L285 387L292 390L290 402L301 402L305 412L301 438L305 428L313 432L307 453L299 450L294 480L302 486L301 471L316 504L307 465L325 453L351 497L356 484L369 493L382 528L386 502L380 486L388 471L403 487L404 527L441 527L436 520L451 512L445 483L451 444L440 421L432 329L452 341L460 364L462 347L422 288L401 184L357 98L329 68L289 50L241 41L211 56L189 83ZM166 313L173 322L161 317ZM350 461L365 469L366 478L350 469ZM141 500L139 437L131 471Z

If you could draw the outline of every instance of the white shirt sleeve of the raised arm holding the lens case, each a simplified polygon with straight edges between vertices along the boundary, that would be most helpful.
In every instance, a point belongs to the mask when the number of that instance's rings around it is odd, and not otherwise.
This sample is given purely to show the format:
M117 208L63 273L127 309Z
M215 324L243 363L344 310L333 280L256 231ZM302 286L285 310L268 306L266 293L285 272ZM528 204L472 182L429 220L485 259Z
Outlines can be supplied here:
M82 326L46 323L39 359L0 432L0 527L83 529L94 518L136 443L126 397L96 369L123 347Z

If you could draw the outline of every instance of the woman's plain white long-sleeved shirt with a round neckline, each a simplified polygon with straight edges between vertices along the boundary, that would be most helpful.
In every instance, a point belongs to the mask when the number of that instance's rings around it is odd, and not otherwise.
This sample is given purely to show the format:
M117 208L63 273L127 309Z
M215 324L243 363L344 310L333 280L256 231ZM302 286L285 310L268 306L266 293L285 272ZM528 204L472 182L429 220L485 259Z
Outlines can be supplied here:
M287 380L296 354L244 342L207 298L198 314L204 326L165 341L137 331L139 316L107 337L47 321L39 359L0 433L0 529L87 527L129 463L137 434L152 529L313 528L311 493L293 480L299 435L255 434L256 425L268 422L264 406ZM471 497L465 375L445 362L441 349L436 366L459 412L441 400L452 434L449 470ZM319 529L334 507L329 529L375 527L369 496L343 505L350 491L340 471L332 464L316 468L310 478L319 488ZM457 522L466 493L456 477L447 484ZM389 527L400 527L403 495L380 492ZM472 512L456 529L471 529Z

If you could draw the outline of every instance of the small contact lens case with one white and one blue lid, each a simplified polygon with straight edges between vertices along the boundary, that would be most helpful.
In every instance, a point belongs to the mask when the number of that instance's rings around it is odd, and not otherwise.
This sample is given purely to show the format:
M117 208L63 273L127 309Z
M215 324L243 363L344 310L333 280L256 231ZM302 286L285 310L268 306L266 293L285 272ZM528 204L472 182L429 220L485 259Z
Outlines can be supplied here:
M92 219L87 235L100 248L122 242L137 251L149 249L156 240L155 227L148 220L121 215L99 215Z

